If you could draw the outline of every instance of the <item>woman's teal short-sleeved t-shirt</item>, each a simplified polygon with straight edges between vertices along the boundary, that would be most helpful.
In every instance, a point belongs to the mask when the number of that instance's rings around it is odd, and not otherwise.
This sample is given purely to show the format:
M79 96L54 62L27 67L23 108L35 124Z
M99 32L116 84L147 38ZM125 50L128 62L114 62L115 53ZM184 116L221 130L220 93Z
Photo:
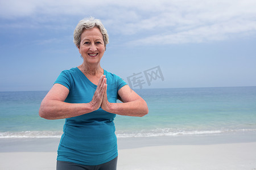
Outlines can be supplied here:
M117 102L118 90L126 83L117 75L104 70L110 103ZM65 102L89 103L97 86L77 68L61 72L55 83L69 89ZM65 119L57 160L83 165L98 165L117 157L115 114L99 108L97 111Z

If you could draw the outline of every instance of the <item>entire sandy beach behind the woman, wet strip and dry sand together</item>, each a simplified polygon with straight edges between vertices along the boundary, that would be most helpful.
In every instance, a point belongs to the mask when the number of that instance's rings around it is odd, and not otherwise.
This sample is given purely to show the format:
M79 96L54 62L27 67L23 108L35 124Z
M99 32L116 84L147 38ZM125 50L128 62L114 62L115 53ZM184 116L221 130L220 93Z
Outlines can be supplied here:
M0 169L55 169L58 143L1 139ZM249 134L119 138L118 148L118 169L256 169L255 135Z

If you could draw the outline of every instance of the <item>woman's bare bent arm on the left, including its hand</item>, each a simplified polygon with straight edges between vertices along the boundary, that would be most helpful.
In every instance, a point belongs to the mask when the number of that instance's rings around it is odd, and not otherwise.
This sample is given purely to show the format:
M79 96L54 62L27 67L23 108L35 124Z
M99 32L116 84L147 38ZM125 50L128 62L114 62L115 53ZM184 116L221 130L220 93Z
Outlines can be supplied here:
M51 90L44 97L40 109L39 116L54 120L60 118L69 118L80 116L85 113L96 111L100 108L106 88L105 76L100 78L98 87L93 95L90 103L65 103L64 100L69 94L67 87L61 84L54 84Z

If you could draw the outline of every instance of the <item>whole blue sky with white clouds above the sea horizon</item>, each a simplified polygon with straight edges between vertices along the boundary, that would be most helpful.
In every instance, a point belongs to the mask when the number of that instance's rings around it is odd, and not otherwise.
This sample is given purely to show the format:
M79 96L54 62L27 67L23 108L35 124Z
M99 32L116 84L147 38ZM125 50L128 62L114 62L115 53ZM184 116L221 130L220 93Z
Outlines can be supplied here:
M126 81L159 66L164 80L143 88L256 86L255 9L254 0L0 1L0 91L49 90L79 66L73 30L88 16L109 33L101 66Z

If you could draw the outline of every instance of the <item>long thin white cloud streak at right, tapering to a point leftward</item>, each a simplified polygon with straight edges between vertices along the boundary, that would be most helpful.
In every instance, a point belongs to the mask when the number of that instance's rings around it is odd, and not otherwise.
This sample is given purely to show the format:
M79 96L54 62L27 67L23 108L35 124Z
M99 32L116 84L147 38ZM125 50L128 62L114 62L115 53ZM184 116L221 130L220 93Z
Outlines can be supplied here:
M154 44L183 44L199 43L216 40L226 40L232 37L249 36L255 34L256 22L236 21L203 25L201 27L185 29L183 31L164 34L159 33L142 39L130 41L130 45ZM238 35L234 35L238 34Z

